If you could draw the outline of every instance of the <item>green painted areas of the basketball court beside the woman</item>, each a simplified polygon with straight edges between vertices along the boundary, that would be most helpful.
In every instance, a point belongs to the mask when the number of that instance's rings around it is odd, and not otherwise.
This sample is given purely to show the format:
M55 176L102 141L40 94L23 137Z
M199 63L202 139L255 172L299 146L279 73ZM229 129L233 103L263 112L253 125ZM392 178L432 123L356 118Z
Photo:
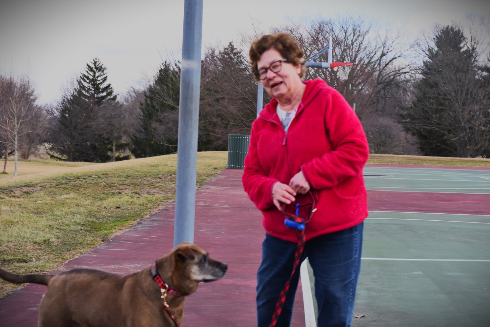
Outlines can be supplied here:
M489 214L370 211L354 308L364 316L352 326L490 326L490 171L366 167L364 175L368 191L488 194ZM311 268L302 272L314 294ZM306 326L316 326L308 293Z

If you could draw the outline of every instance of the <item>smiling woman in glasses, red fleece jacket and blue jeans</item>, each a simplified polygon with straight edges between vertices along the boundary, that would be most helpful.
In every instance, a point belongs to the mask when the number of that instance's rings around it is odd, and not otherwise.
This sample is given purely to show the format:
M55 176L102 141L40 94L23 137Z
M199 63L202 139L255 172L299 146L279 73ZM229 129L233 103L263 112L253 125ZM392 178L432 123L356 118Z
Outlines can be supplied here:
M272 97L253 122L242 182L266 230L257 273L258 326L269 326L294 267L297 231L284 223L295 204L317 199L304 251L315 276L318 326L351 326L368 216L363 167L368 142L354 110L323 80L302 81L304 52L289 34L250 47L256 81ZM275 326L290 326L299 271Z

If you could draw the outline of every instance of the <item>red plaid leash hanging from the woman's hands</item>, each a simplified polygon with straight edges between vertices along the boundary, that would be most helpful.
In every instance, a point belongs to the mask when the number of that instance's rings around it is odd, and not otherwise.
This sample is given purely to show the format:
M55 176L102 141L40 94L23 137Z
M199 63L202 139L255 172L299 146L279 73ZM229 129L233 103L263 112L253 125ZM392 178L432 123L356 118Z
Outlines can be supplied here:
M306 204L296 204L296 214L290 214L286 212L286 204L280 202L280 207L281 211L286 217L287 220L294 221L295 223L298 224L306 224L308 223L312 216L313 213L316 211L315 206L317 205L316 201L316 193L314 194L313 191L309 191L312 202L311 203L306 203ZM304 206L304 205L311 205L309 208L307 214L306 214L306 219L303 219L299 217L299 207ZM296 273L296 270L299 267L299 262L301 260L301 255L303 254L304 246L305 246L305 240L306 240L306 229L303 227L303 229L296 229L297 235L298 235L298 243L296 247L296 252L294 253L294 266L293 266L293 272L291 273L291 276L289 277L288 281L286 282L286 285L284 285L284 288L281 291L281 294L279 295L279 300L277 300L275 309L274 309L274 314L272 315L272 321L270 322L269 327L274 327L275 324L277 323L277 320L279 319L279 316L281 315L282 311L282 306L284 304L284 301L286 301L286 294L288 293L289 286L291 283L291 280L293 279L294 274Z

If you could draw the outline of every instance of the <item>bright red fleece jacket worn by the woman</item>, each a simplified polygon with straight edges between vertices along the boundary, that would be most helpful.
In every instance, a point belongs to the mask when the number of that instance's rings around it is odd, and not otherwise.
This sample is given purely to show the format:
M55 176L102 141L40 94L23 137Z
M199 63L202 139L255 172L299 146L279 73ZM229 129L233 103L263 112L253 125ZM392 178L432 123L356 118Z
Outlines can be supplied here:
M272 99L253 122L242 182L245 192L262 211L267 233L296 242L295 229L272 202L272 185L289 184L303 172L318 194L317 211L306 224L306 239L360 224L368 216L363 167L368 141L361 122L343 96L323 80L306 85L296 116L284 132ZM297 195L296 203L311 202ZM294 213L290 204L287 211Z

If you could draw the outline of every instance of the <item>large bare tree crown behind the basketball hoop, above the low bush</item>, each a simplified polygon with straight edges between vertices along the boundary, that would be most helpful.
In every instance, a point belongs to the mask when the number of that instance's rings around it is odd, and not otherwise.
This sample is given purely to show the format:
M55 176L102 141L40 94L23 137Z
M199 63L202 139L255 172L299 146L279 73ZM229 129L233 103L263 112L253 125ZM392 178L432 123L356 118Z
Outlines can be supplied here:
M310 69L306 78L321 78L337 89L353 105L362 119L377 111L380 99L396 85L405 87L405 81L415 71L410 60L412 48L403 42L398 32L383 33L360 17L344 16L336 19L318 19L280 29L292 34L310 57L329 43L332 37L332 56L335 62L354 65L347 79L334 69ZM327 62L327 52L316 61Z

